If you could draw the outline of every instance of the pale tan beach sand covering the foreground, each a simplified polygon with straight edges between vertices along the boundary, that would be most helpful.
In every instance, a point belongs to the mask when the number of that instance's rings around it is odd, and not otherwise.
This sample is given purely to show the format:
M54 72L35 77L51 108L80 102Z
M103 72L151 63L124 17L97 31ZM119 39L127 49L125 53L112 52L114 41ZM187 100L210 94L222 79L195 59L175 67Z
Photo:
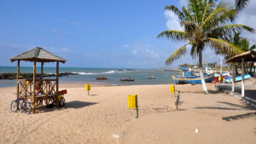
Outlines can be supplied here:
M204 95L201 85L177 85L182 104L170 84L136 86L61 84L66 106L41 107L26 115L10 112L15 88L0 89L0 143L256 143L256 111L232 95ZM127 108L127 95L138 95L139 118ZM195 129L199 132L196 133ZM119 135L119 138L113 137Z

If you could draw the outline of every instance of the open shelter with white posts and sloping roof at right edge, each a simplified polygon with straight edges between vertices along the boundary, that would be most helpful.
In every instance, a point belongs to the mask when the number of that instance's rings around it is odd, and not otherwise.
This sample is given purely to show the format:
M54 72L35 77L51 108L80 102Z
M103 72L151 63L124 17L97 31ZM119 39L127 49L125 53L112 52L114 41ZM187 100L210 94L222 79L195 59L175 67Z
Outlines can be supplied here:
M231 57L229 60L225 60L226 63L231 63L232 65L232 92L234 94L235 92L235 63L236 62L241 62L241 96L244 97L244 67L245 67L245 62L246 61L256 61L256 49L249 50L245 53L242 53L240 55L235 55Z

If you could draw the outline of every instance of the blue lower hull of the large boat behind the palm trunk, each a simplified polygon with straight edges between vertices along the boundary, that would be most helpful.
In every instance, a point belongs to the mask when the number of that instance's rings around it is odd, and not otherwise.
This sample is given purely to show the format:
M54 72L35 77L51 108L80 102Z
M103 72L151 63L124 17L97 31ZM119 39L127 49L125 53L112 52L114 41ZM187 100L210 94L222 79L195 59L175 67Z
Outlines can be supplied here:
M201 84L201 78L200 76L172 76L174 82L176 84ZM207 74L204 75L206 83L212 83L212 80L214 78L214 74Z

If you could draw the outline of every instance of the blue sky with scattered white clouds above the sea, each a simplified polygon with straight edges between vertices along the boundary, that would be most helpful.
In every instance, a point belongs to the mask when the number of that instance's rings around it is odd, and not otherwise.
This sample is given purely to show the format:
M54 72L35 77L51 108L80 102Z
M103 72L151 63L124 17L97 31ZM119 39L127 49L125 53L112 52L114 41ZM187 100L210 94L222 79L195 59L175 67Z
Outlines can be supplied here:
M10 57L38 46L66 59L62 67L166 67L165 60L184 44L157 38L169 29L182 30L177 16L164 10L172 4L181 8L186 0L1 0L0 66L16 66ZM254 9L251 0L236 23L256 29ZM244 35L256 43L255 33ZM203 61L219 57L210 48L203 51ZM197 61L188 54L168 67Z

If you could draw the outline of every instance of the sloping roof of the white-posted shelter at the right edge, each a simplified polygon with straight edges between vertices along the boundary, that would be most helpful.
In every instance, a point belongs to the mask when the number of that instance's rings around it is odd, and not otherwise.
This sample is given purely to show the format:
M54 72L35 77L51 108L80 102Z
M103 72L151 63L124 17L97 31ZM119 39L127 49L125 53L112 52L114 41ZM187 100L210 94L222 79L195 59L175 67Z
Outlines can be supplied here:
M231 57L229 60L225 60L226 63L229 62L241 62L241 59L244 59L245 61L255 61L256 60L256 49L247 51L245 53L241 53L239 55L235 55Z

